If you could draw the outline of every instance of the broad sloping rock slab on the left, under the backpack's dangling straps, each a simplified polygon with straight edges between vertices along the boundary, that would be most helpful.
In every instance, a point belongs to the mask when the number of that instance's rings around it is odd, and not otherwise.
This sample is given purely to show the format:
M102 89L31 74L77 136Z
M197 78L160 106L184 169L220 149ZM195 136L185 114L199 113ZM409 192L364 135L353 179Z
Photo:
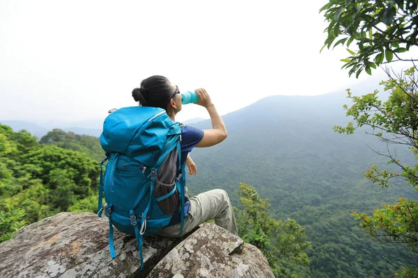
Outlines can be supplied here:
M114 229L116 258L109 254L109 222L93 213L59 213L30 224L0 244L0 277L146 277L178 240L144 238L144 271L137 240Z

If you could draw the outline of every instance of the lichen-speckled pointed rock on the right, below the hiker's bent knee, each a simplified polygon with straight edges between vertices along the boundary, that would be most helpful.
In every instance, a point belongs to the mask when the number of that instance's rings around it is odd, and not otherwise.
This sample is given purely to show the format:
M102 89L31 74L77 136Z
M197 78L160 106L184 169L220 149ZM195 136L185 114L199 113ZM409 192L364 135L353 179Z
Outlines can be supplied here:
M274 277L253 245L225 229L206 224L173 248L147 278Z

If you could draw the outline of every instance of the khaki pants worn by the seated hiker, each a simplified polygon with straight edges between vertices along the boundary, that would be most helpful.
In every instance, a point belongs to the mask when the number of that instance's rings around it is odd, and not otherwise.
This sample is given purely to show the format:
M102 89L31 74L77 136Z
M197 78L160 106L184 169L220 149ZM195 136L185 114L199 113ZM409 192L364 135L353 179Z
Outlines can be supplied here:
M189 233L199 224L215 219L215 224L238 234L233 208L228 193L222 189L214 189L190 198L189 215L185 218L183 234ZM180 236L180 224L165 227L157 234L168 238Z

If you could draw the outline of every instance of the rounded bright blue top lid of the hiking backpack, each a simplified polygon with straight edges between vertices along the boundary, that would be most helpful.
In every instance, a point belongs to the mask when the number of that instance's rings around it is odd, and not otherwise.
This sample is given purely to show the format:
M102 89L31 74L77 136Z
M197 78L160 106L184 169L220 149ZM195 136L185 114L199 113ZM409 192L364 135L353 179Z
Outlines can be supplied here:
M147 166L157 166L160 156L178 142L180 124L162 108L125 107L106 117L100 144L104 152L118 152Z

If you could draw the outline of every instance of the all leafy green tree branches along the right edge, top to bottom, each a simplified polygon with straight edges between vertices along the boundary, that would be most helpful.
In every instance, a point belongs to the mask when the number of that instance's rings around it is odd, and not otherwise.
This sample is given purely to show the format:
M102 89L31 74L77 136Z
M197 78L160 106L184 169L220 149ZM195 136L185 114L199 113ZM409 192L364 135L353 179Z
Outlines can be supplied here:
M372 130L370 133L387 144L388 164L398 166L400 172L380 170L371 165L365 176L379 183L382 188L389 187L389 181L402 179L409 183L415 192L418 191L418 165L408 165L401 161L396 149L392 152L389 145L405 146L410 154L418 159L418 95L417 67L415 59L401 58L401 53L411 47L417 47L418 40L418 2L415 0L367 1L367 0L330 0L321 12L329 25L325 46L330 48L341 44L357 42L357 51L347 49L350 57L343 59L343 68L350 68L348 74L358 77L362 70L371 74L371 68L397 60L411 61L413 67L394 74L386 70L389 80L382 81L385 90L389 91L387 101L378 98L378 90L360 97L348 97L353 105L344 106L347 116L353 122L347 126L334 126L334 131L352 134L362 126ZM395 59L394 59L395 58ZM418 245L418 202L408 201L401 197L398 204L383 204L383 208L373 211L373 215L353 213L355 219L361 220L362 226L373 238L385 243L405 243L410 250ZM412 277L416 270L406 269L401 275Z

